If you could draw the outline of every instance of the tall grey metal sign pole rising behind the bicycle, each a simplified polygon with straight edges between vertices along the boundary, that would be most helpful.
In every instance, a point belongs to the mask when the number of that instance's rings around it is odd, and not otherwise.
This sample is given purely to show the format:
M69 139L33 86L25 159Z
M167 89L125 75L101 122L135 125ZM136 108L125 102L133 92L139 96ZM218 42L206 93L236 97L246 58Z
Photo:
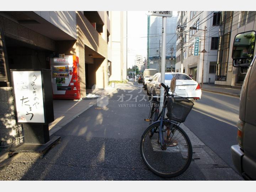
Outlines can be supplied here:
M162 60L161 60L161 83L165 83L165 49L166 49L166 21L167 17L162 17ZM164 88L160 89L160 110L164 105Z

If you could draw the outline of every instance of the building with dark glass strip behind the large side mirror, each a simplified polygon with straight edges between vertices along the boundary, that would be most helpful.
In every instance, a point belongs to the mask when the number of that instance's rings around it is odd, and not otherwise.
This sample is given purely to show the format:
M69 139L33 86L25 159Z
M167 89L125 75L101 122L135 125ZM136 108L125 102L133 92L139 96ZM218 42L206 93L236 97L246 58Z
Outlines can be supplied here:
M245 74L240 72L240 68L232 65L234 38L239 33L256 31L255 20L256 11L222 11L215 84L241 88Z

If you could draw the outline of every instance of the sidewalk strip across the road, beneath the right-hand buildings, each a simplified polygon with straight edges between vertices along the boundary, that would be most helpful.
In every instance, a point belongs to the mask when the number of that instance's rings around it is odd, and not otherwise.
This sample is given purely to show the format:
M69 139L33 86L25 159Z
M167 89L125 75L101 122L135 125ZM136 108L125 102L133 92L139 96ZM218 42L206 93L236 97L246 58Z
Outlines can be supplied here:
M241 93L240 89L219 87L219 86L216 86L215 84L203 84L202 90L208 91L208 92L213 92L213 93L230 95L233 97L240 97L240 93Z

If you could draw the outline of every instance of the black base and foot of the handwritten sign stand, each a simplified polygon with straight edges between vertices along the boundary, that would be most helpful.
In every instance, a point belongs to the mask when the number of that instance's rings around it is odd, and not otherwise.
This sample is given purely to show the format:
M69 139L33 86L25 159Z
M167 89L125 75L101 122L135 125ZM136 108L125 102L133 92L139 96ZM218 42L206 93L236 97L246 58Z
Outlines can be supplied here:
M50 139L48 125L23 124L24 142L15 148L10 148L9 155L13 153L40 153L40 158L47 150L60 140L54 136Z

